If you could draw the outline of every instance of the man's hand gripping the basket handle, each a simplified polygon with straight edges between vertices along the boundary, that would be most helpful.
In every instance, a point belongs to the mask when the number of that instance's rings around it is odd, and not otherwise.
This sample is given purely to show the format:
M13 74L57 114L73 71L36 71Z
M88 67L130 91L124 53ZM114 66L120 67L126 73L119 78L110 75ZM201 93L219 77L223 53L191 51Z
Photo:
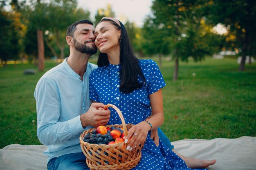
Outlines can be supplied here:
M104 106L105 105L103 103L92 103L89 110L80 115L83 128L88 125L98 127L108 123L110 118L110 110L103 109Z

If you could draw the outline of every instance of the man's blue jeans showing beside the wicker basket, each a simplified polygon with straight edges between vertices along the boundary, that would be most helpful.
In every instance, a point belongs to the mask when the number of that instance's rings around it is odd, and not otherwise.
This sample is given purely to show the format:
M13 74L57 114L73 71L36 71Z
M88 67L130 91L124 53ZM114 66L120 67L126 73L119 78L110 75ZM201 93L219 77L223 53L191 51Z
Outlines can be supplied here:
M89 170L83 152L70 153L52 158L47 163L48 170Z

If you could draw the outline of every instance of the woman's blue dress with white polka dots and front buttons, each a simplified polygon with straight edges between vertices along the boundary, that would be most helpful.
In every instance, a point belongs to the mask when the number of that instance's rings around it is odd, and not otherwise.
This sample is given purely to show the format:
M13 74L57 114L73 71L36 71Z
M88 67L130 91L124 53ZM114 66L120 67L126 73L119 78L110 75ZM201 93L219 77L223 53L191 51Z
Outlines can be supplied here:
M139 60L139 66L146 79L146 85L132 93L119 91L121 65L108 64L92 71L90 75L90 99L103 104L114 104L122 114L126 124L138 124L151 115L149 95L155 93L166 84L163 76L153 60ZM138 78L142 82L141 77ZM121 124L121 120L113 108L108 124ZM190 170L175 152L166 147L161 139L157 147L147 136L139 164L132 170Z

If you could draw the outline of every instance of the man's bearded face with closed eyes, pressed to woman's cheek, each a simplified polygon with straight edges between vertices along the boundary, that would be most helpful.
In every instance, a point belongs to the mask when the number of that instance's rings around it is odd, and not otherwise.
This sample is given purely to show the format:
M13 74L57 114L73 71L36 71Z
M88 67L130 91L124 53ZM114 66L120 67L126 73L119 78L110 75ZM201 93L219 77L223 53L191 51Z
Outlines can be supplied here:
M95 54L97 48L94 45L94 26L91 24L78 24L74 32L74 47L77 51L86 54Z

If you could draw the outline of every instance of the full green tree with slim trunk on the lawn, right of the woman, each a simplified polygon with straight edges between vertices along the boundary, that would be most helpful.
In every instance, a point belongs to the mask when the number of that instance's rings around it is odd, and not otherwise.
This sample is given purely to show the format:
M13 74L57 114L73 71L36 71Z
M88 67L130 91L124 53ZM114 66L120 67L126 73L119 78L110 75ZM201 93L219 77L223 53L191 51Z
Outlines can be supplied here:
M159 41L160 44L169 44L169 52L175 60L174 81L178 78L180 59L188 61L188 57L193 57L195 61L201 61L204 55L213 53L207 44L202 42L202 38L206 40L205 37L208 36L208 32L202 32L201 24L204 21L204 9L208 5L207 0L153 1L153 34L163 37L162 41ZM161 31L157 33L159 30Z

